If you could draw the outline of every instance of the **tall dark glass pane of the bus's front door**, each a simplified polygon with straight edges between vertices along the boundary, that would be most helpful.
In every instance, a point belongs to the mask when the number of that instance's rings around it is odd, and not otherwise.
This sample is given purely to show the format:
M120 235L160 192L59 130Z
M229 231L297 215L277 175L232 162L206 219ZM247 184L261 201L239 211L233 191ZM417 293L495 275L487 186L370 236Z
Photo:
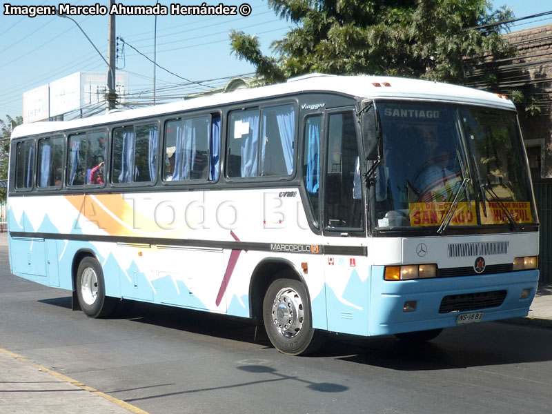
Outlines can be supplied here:
M326 228L362 228L362 188L355 119L330 116L326 171Z

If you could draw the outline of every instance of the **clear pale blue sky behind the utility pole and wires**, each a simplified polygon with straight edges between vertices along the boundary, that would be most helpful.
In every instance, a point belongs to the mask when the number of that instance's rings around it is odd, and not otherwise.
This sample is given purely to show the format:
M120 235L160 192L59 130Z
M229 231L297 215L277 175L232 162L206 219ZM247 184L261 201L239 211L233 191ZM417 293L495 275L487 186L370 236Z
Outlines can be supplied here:
M174 1L174 0L172 0ZM221 0L219 0L221 1ZM207 2L217 5L219 1ZM3 5L8 1L4 1ZM153 5L150 1L119 0L125 6ZM157 17L156 96L159 103L178 99L193 92L226 85L231 77L252 74L255 68L230 53L228 32L243 30L259 38L262 51L270 55L270 43L281 39L291 27L268 8L264 0L244 0L250 6L247 16ZM61 1L10 1L12 6L57 6ZM71 6L108 6L108 0L70 0ZM159 3L170 7L171 1ZM199 6L201 1L184 0L180 4ZM226 6L242 4L230 1ZM493 6L511 7L516 17L552 10L542 0L495 0ZM43 86L79 71L106 72L106 63L79 30L77 24L57 16L24 17L0 13L0 118L23 115L23 92ZM107 57L108 16L71 16L92 43ZM515 23L512 30L552 23L552 15ZM152 100L155 17L117 16L117 70L129 73L132 102ZM146 55L146 57L144 57ZM170 73L172 72L172 73ZM199 82L190 83L184 79ZM92 112L94 108L90 108Z

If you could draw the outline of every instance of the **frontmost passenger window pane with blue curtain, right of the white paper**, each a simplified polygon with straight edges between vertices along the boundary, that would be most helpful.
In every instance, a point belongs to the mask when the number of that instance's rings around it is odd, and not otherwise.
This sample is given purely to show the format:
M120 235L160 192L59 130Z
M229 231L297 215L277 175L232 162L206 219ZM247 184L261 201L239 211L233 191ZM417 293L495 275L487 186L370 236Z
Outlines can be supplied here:
M262 110L261 175L291 175L295 141L295 108L275 106Z

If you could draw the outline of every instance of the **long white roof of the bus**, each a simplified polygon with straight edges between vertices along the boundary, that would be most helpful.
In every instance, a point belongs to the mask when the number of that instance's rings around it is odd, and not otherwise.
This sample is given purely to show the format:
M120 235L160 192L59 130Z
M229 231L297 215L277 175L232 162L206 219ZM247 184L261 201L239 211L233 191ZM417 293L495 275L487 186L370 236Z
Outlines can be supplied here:
M183 99L172 103L149 106L147 108L116 110L97 117L75 119L72 121L46 121L24 124L17 126L13 130L12 139L28 135L109 124L111 122L132 121L132 119L239 103L264 97L290 95L299 92L338 92L361 99L422 99L515 110L515 106L511 101L498 97L493 93L451 85L449 83L385 76L311 74L289 79L286 83L252 89L240 89L234 92L221 92L214 95L205 95L193 99Z

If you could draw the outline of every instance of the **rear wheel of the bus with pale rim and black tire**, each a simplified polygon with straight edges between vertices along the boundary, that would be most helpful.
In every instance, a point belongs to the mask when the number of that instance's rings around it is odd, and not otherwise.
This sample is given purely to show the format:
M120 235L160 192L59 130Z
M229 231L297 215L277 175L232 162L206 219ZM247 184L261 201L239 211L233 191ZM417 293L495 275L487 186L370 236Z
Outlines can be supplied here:
M95 258L85 257L81 260L79 270L77 270L75 289L79 305L86 315L106 317L112 314L117 300L115 297L106 297L103 272Z

